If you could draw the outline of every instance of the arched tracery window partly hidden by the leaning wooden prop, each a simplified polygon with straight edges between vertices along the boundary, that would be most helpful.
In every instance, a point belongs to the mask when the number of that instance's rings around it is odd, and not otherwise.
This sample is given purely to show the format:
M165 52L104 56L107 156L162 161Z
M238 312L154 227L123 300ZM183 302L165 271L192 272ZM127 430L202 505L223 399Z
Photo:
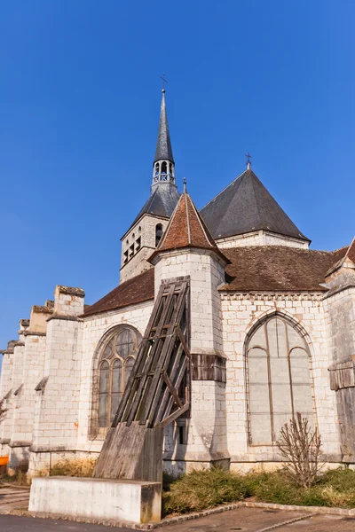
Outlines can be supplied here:
M119 325L101 342L99 356L94 364L93 404L97 404L96 430L110 426L130 377L141 337L128 325ZM97 385L95 386L95 382Z

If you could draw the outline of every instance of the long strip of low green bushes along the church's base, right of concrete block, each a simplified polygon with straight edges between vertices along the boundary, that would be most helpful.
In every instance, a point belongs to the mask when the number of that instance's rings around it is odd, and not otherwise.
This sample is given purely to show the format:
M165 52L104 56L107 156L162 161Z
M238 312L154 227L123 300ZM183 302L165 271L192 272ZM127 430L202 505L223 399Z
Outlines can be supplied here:
M246 497L279 505L355 508L355 472L343 468L329 470L319 474L312 488L301 488L282 469L246 474L218 468L193 471L181 479L169 478L165 482L163 512L198 512Z

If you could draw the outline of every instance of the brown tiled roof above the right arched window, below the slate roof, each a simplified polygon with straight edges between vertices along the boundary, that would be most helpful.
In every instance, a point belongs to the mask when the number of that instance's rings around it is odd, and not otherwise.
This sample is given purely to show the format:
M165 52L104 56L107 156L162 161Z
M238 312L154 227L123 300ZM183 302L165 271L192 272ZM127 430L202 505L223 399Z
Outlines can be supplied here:
M326 290L327 270L339 261L348 247L315 251L289 246L246 246L224 249L232 262L226 267L227 291L321 292ZM229 277L228 277L229 276Z

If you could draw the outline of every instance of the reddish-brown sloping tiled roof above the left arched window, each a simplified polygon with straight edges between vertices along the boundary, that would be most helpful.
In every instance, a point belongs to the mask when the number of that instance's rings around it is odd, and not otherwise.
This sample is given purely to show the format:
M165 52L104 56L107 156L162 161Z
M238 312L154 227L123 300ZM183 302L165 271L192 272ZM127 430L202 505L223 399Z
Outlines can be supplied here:
M85 309L82 317L93 316L108 310L121 309L154 299L154 269L146 270L117 286L102 299Z

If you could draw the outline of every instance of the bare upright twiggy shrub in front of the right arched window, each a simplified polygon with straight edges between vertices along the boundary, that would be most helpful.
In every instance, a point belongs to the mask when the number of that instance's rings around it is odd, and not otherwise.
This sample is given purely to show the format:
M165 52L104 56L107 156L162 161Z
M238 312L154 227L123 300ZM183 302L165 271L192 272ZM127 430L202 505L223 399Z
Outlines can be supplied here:
M282 426L277 445L287 460L285 469L288 476L298 486L310 488L323 466L319 463L321 442L318 429L312 431L308 419L297 412L296 418Z

